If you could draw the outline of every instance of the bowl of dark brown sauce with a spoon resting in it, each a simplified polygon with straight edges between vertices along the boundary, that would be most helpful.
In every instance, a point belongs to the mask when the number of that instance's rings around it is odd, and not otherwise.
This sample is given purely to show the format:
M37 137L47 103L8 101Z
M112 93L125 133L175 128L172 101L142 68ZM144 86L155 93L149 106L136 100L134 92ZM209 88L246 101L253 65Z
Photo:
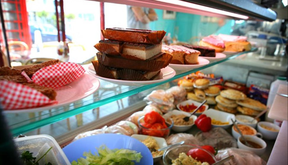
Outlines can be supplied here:
M252 136L252 135L243 135L243 136L247 140L247 143L249 143L250 146L245 145L244 139L242 137L239 137L237 140L238 148L252 151L259 156L263 155L267 147L267 144L264 140L262 140L261 138L258 138L257 136Z

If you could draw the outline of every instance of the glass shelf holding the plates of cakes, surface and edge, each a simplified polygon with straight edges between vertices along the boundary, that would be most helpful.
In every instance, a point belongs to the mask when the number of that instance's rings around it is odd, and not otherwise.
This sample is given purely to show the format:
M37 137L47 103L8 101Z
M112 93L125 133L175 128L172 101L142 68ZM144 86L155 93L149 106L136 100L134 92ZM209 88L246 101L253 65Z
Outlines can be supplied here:
M4 114L8 121L8 125L12 131L12 134L14 136L17 136L19 134L43 127L45 125L52 124L63 119L67 119L68 117L81 114L85 111L96 109L97 107L100 107L102 105L111 103L113 101L117 101L119 99L122 99L128 96L132 96L139 92L149 90L149 89L153 90L152 88L156 86L168 83L172 80L181 78L185 75L211 67L216 64L220 64L227 60L234 59L242 54L246 54L246 53L253 52L256 50L257 48L252 48L250 51L226 55L227 57L225 59L220 59L219 61L213 61L213 62L210 61L209 64L196 68L196 69L192 69L192 70L176 71L176 75L172 77L171 79L165 80L160 83L154 83L154 84L144 85L140 87L115 85L113 83L100 80L100 88L92 95L80 101L76 101L74 103L71 103L70 105L63 106L60 108L50 109L50 110L47 109L42 112L27 113L28 115L26 115L26 117L21 118L20 121L15 120L15 115L17 116L17 114L5 114L5 113Z

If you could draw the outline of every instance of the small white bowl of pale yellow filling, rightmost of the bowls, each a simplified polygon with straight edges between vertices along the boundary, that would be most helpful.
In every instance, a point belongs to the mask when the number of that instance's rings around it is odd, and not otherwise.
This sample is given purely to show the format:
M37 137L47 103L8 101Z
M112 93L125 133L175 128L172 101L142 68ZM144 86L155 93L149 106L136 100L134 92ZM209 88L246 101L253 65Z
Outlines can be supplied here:
M262 127L262 125L265 125L267 127L275 128L275 129L278 130L278 132L266 130L265 128ZM257 124L257 130L258 130L258 132L262 133L264 139L275 140L277 138L277 136L278 136L280 127L278 125L270 123L270 122L259 122Z

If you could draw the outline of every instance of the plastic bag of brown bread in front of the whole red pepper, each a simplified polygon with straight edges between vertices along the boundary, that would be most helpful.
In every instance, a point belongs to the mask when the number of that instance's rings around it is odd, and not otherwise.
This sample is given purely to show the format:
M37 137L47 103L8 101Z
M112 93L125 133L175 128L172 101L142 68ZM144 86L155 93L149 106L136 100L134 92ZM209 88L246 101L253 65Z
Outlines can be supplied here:
M204 145L211 145L217 149L237 147L237 141L223 128L212 128L208 132L198 132L196 139Z

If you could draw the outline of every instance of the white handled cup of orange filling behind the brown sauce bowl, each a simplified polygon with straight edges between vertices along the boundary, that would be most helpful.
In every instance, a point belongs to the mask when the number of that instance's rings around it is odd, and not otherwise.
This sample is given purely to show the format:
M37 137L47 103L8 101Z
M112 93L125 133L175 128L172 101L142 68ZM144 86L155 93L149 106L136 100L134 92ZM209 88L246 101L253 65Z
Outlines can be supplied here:
M262 138L262 134L257 132L253 127L250 127L249 125L244 124L237 124L237 127L242 132L242 135L252 135L252 136L259 136ZM235 139L238 139L241 135L238 133L237 129L233 125L232 127L232 135Z

